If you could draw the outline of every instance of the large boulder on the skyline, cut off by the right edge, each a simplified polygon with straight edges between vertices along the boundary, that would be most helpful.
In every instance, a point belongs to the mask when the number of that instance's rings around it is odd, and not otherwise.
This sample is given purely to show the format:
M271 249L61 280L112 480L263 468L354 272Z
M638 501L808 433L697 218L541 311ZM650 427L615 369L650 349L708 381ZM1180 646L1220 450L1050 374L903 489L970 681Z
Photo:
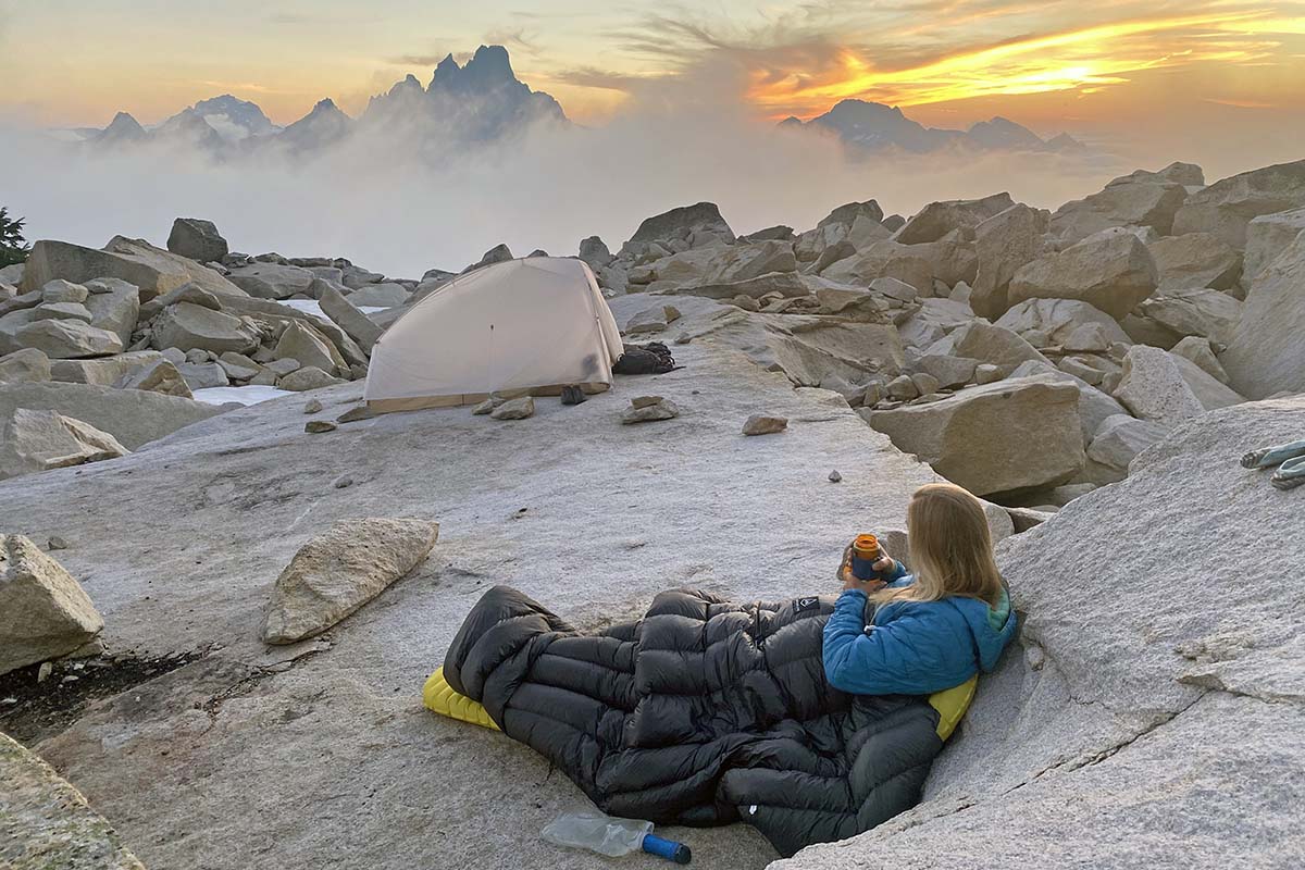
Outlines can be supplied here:
M1210 232L1242 249L1251 219L1301 206L1305 206L1305 160L1279 163L1193 193L1173 218L1173 233Z

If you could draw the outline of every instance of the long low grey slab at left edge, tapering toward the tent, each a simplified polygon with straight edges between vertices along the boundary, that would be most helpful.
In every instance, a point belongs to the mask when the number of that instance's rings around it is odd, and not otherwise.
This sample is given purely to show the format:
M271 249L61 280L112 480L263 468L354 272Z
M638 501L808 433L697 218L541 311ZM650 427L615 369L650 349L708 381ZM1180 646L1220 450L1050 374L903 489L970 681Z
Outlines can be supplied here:
M56 381L0 385L0 420L17 408L57 411L114 436L128 450L221 412L217 406L144 390Z

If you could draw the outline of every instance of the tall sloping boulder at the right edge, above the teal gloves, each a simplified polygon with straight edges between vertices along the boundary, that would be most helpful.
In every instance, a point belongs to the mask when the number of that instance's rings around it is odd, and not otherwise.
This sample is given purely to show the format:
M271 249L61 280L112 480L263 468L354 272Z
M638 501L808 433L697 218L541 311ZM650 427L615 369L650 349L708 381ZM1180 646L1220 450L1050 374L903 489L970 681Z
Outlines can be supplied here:
M1242 395L1261 399L1282 390L1305 391L1302 286L1305 232L1257 275L1228 350L1219 357L1232 386Z

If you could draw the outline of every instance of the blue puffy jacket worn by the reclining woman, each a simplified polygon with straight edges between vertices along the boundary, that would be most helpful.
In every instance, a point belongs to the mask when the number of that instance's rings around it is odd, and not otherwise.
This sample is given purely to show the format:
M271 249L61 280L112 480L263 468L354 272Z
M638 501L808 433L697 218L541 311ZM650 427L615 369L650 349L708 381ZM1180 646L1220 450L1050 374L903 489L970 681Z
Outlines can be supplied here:
M890 587L912 578L898 562ZM1002 592L997 608L964 596L893 601L865 625L865 592L847 590L825 623L825 677L856 695L929 695L992 670L1015 635L1015 612Z

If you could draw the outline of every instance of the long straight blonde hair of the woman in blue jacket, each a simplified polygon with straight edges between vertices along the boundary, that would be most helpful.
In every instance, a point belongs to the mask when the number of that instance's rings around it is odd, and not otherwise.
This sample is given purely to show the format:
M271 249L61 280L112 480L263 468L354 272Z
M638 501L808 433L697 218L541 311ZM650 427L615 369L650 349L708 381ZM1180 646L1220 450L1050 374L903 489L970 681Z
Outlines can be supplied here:
M992 554L988 518L977 498L955 484L927 484L907 507L915 582L870 596L886 601L937 601L951 595L996 605L1002 582Z

